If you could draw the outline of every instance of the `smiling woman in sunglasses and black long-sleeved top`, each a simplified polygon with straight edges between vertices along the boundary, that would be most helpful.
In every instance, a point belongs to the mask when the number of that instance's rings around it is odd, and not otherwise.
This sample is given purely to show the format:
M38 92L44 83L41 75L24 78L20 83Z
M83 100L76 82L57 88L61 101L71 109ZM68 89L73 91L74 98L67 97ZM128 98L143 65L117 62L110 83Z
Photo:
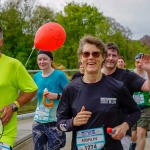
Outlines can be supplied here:
M122 150L120 139L139 119L140 110L122 82L102 74L106 49L99 38L83 37L78 56L84 76L72 80L63 91L57 126L73 131L72 150ZM122 116L123 110L128 117ZM115 133L108 134L107 127Z

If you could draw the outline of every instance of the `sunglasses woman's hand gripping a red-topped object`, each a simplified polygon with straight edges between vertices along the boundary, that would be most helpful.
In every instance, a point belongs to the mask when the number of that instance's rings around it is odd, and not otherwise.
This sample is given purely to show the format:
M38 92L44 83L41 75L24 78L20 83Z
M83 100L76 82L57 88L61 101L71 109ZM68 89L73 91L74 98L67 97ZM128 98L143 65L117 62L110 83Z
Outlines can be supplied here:
M116 132L112 135L112 138L115 140L121 140L126 135L126 132L129 129L129 125L124 122L113 129L115 129Z

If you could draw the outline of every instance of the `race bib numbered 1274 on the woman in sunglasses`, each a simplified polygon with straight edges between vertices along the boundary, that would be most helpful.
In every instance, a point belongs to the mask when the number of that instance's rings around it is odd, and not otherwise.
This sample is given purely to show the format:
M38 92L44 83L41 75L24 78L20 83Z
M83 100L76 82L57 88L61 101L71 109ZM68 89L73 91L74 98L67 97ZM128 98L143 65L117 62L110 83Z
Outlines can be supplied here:
M93 128L77 132L78 150L101 150L105 145L103 128Z

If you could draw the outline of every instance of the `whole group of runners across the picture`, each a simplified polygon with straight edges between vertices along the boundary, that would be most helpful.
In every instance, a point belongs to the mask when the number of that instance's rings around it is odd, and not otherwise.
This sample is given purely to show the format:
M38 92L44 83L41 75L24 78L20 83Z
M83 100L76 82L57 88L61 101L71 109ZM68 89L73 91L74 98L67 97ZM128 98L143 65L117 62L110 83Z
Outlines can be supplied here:
M0 46L3 42L0 27ZM77 54L79 72L69 82L50 51L38 51L41 71L33 78L20 61L0 51L0 149L13 149L17 110L36 95L35 150L60 150L70 131L72 150L144 150L150 124L150 55L137 54L130 71L115 43L104 44L91 35L80 39Z

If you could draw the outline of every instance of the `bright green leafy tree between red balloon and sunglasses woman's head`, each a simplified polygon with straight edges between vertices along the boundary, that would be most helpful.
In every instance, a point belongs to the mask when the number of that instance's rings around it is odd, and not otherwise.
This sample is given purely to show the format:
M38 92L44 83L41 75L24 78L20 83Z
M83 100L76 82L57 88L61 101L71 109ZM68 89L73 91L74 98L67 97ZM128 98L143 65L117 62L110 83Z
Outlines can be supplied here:
M101 36L105 17L96 7L71 2L64 8L64 12L58 13L57 22L64 27L67 39L64 46L54 52L57 55L56 61L67 68L77 68L77 49L80 38L86 34Z

